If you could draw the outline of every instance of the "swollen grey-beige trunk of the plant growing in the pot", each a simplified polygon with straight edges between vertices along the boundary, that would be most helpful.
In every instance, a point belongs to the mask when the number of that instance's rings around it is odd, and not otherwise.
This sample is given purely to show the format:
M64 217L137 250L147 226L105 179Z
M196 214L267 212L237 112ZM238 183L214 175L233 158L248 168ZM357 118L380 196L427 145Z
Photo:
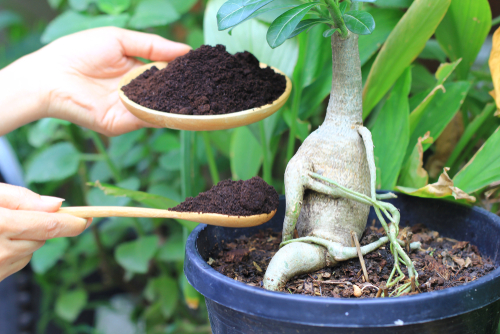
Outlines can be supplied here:
M306 138L286 168L283 241L293 238L297 226L300 237L351 246L351 231L361 237L366 227L370 206L332 194L331 189L325 193L325 184L312 178L311 172L357 193L375 196L365 149L371 136L362 122L358 36L349 34L342 39L334 34L332 51L333 82L325 121ZM333 265L335 257L322 246L287 244L269 264L264 287L280 290L295 275Z

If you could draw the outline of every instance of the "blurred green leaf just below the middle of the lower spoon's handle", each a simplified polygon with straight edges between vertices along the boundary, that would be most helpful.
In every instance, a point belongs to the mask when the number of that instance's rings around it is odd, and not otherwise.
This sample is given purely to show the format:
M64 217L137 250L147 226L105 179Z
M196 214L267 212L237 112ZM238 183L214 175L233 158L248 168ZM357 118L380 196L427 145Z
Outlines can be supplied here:
M145 274L148 271L149 260L157 250L157 235L139 237L137 240L120 244L115 250L115 259L127 271Z

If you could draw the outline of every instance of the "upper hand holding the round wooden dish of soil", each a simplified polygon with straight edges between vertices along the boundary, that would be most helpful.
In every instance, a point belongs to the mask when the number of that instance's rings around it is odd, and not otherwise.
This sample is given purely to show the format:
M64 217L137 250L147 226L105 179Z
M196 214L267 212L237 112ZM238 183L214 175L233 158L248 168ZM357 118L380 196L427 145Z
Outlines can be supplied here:
M2 93L16 97L1 103L7 105L7 124L0 125L0 135L43 117L64 119L108 136L153 127L125 109L118 83L125 73L142 65L133 57L171 61L189 50L157 35L114 27L62 37L0 71L4 72ZM17 84L20 80L24 86ZM26 108L19 105L27 102L20 99L30 101L31 110L22 118L16 115ZM17 119L9 123L9 117Z

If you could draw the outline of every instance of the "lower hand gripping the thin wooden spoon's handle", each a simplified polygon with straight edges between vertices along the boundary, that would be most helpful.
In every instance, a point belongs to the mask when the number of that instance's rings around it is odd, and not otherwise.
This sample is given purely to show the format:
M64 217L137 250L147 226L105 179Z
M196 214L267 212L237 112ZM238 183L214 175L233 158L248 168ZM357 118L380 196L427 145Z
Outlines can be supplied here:
M82 233L91 219L54 213L63 199L0 183L0 281L24 268L45 240Z

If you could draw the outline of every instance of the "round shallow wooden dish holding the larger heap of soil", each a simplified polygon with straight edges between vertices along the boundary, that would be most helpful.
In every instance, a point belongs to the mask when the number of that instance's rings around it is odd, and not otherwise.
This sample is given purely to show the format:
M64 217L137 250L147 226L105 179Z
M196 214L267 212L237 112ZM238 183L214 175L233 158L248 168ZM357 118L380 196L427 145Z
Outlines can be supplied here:
M127 85L130 81L135 79L144 71L152 66L162 69L167 67L166 62L155 62L146 64L133 69L123 76L118 86L118 94L125 107L134 114L136 117L151 124L159 125L164 128L177 129L177 130L190 130L190 131L213 131L236 128L239 126L258 122L266 117L271 116L279 108L281 108L292 91L292 82L290 79L278 69L271 67L275 72L285 75L286 88L285 92L273 103L266 104L259 108L238 111L224 115L212 116L196 116L196 115L180 115L171 114L163 111L153 110L143 107L132 100L130 100L122 91L122 87ZM260 67L266 67L266 64L261 63Z

